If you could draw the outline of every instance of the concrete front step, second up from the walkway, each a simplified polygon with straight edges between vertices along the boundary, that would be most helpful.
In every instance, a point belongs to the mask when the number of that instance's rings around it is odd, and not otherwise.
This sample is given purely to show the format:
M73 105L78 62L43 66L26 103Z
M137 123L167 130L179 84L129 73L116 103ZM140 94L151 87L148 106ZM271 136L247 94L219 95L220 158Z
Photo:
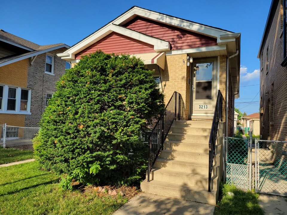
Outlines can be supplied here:
M208 188L208 175L198 173L187 173L176 170L156 169L150 172L150 180L181 183L188 186L197 186L198 188Z

